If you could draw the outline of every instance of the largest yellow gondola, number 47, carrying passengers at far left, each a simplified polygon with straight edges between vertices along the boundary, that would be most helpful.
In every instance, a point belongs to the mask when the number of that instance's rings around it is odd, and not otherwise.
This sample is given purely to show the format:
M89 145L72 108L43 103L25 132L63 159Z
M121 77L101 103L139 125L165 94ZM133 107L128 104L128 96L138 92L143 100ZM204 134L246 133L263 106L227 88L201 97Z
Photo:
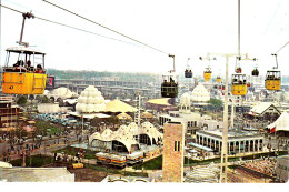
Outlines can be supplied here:
M13 58L13 55L17 57ZM10 64L10 60L17 62ZM46 81L44 53L28 47L7 49L7 60L2 72L3 93L43 94Z

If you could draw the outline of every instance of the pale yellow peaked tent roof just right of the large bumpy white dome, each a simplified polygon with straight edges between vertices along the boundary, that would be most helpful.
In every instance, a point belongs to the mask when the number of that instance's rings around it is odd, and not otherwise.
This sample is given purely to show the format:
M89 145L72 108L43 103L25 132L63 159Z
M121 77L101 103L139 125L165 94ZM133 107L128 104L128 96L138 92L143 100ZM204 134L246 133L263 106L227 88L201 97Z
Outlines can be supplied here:
M133 108L118 99L114 99L107 103L106 112L136 112L137 108Z

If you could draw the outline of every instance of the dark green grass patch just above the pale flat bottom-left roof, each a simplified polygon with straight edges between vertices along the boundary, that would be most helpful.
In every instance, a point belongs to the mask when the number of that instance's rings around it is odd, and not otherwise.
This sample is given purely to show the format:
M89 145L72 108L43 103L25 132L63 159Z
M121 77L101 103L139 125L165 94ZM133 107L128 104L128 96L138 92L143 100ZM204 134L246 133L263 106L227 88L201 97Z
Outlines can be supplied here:
M31 163L30 163L30 159L31 159ZM18 160L11 161L10 163L13 166L21 166L22 161L23 161L22 159L18 159ZM40 168L40 166L51 163L52 161L53 161L52 156L33 155L33 156L26 158L26 165L30 166L30 168Z

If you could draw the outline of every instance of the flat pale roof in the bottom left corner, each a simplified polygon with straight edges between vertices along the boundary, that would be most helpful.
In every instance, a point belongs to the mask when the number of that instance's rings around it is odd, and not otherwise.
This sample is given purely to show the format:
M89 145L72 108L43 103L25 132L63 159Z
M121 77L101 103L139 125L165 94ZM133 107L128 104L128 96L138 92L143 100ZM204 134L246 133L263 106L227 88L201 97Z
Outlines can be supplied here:
M67 168L0 168L0 179L8 182L63 182L71 174Z

